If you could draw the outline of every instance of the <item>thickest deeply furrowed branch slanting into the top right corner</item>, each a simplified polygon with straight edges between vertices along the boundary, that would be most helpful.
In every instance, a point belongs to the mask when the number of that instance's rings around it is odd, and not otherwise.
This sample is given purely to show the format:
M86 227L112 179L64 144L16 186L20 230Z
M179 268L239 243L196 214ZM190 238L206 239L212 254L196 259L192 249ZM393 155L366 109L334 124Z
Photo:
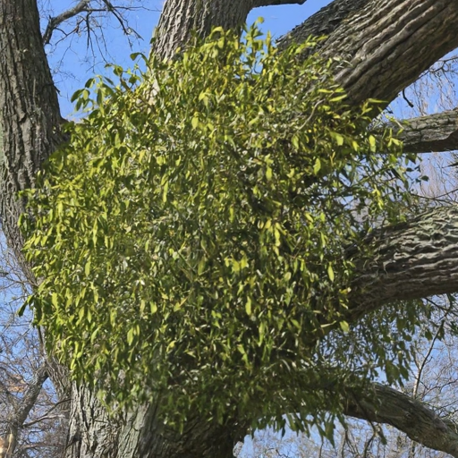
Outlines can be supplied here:
M389 103L458 47L456 0L335 0L279 42L327 34L320 52L348 64L336 79L352 103Z

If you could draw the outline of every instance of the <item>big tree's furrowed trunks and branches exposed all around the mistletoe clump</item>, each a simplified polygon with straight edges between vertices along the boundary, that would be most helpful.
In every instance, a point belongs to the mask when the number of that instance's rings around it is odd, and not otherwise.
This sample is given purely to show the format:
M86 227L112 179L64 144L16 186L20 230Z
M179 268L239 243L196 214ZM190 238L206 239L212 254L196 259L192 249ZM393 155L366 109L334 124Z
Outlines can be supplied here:
M233 2L168 0L159 21L152 53L171 57L186 47L191 30L208 35L213 26L240 30L252 8L303 1L237 0ZM89 4L89 2L81 2ZM105 2L105 4L107 4ZM287 47L312 35L327 35L323 56L350 63L336 68L335 79L354 106L368 98L389 102L439 58L458 47L458 5L454 0L335 0L279 41ZM39 30L35 0L0 1L0 106L4 162L0 196L3 227L9 246L30 284L30 266L21 256L17 223L25 201L17 192L36 184L44 161L65 140L56 90ZM39 89L38 89L39 88ZM408 151L456 148L456 110L410 120L403 133ZM361 264L352 284L345 316L357 323L388 302L426 298L458 290L455 231L456 208L434 208L403 225L381 228L373 259ZM67 388L64 369L51 361L54 381ZM60 376L60 377L57 377ZM358 397L349 389L346 414L388 423L437 450L458 456L457 428L425 404L389 386L375 385ZM139 405L123 418L109 418L87 386L72 386L67 456L232 456L233 445L250 425L237 415L224 424L196 416L182 433L157 418L154 403ZM415 418L412 421L411 418Z

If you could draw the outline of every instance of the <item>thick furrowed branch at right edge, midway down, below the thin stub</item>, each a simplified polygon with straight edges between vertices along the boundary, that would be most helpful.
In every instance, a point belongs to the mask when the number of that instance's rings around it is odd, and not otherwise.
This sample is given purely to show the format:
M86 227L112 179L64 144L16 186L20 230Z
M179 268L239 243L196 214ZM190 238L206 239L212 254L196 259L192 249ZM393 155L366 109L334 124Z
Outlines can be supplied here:
M457 205L382 228L368 245L370 258L356 260L349 321L387 302L458 292ZM353 254L349 249L348 255Z

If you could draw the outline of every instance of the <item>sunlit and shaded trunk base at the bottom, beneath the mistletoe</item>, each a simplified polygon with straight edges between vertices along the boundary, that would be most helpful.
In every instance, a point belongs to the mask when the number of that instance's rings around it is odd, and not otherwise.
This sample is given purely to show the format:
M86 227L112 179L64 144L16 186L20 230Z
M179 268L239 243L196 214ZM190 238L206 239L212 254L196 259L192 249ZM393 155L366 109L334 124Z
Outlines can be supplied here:
M110 418L84 386L73 386L67 457L231 458L234 445L247 433L246 425L228 420L216 425L196 417L183 432L166 428L154 403Z

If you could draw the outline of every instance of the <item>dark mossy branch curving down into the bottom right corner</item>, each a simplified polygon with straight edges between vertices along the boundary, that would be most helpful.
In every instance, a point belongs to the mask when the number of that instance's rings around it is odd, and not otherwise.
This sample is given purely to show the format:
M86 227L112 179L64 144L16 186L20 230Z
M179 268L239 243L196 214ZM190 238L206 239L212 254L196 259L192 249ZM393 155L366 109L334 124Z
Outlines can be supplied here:
M394 426L412 440L458 458L458 426L428 405L381 384L346 394L346 415Z

